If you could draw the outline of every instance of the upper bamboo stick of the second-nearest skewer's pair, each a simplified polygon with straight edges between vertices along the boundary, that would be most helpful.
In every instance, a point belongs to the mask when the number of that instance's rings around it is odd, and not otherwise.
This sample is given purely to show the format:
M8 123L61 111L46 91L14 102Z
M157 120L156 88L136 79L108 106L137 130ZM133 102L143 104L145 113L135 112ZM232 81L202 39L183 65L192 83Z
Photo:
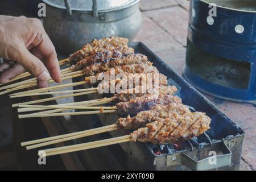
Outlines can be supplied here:
M78 132L75 132L75 133L58 135L58 136L55 136L55 137L48 137L48 138L42 138L42 139L37 139L37 140L31 140L31 141L28 141L28 142L22 142L21 146L22 147L23 146L30 146L32 144L43 143L43 142L48 142L48 141L52 141L52 140L73 137L73 136L81 135L81 134L93 133L93 132L100 131L100 130L103 130L103 129L105 130L105 129L111 129L111 128L115 128L115 127L118 127L117 124L98 127L96 129L90 129L90 130L85 130L85 131L78 131Z

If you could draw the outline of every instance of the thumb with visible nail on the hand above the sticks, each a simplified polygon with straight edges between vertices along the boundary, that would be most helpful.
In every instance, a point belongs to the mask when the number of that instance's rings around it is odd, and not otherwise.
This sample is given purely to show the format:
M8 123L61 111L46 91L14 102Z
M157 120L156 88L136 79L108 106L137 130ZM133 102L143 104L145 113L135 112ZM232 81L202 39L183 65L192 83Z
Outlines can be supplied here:
M18 61L23 67L38 80L38 87L44 88L48 86L50 75L47 68L38 57L32 55L27 49L20 52Z

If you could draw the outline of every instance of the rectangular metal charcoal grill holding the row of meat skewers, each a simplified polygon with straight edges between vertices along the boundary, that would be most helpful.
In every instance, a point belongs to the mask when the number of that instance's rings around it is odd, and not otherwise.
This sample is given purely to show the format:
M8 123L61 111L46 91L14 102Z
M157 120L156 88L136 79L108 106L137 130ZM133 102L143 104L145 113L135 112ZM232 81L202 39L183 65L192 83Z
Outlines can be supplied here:
M203 111L212 118L211 129L197 138L185 141L183 143L154 145L150 143L129 142L119 144L120 151L113 151L114 156L125 156L125 169L149 169L149 170L238 170L241 160L242 142L244 131L224 115L207 98L199 93L195 88L188 84L182 77L177 75L167 64L158 56L150 51L143 43L131 43L130 47L137 53L143 53L148 56L156 68L168 77L168 82L175 85L185 105L190 106L191 110ZM79 81L82 78L76 78L73 81ZM75 89L79 89L77 86ZM86 97L77 97L76 101L93 100L99 98L98 94L88 95ZM89 117L79 116L83 125L88 128L113 124L119 118L115 114L98 115L89 121ZM86 120L86 122L85 122ZM113 131L111 137L118 137L128 134L127 131ZM90 137L91 139L94 136ZM98 139L98 138L97 138ZM108 147L101 147L101 154ZM215 151L216 164L209 164L212 160L209 156L210 151ZM94 152L94 150L90 150ZM96 156L100 158L101 156ZM103 156L102 158L106 158ZM108 156L107 156L108 158ZM94 160L94 159L92 159ZM102 160L103 161L103 160ZM110 163L109 169L112 169L113 163Z

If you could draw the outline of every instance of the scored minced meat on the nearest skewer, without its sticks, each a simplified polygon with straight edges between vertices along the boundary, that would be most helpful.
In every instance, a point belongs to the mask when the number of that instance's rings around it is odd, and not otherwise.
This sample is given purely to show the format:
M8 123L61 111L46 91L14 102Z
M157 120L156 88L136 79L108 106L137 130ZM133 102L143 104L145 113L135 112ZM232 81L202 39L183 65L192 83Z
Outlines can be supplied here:
M134 142L177 143L197 137L209 129L210 118L205 113L195 112L175 118L158 118L131 133L131 138Z

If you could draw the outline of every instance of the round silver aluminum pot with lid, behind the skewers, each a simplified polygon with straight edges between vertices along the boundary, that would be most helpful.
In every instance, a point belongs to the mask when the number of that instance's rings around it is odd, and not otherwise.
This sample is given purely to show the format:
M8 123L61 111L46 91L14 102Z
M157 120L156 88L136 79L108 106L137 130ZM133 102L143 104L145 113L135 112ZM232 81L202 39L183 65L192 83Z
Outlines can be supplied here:
M73 53L93 38L122 36L130 41L141 23L139 0L43 0L44 28L56 48Z

